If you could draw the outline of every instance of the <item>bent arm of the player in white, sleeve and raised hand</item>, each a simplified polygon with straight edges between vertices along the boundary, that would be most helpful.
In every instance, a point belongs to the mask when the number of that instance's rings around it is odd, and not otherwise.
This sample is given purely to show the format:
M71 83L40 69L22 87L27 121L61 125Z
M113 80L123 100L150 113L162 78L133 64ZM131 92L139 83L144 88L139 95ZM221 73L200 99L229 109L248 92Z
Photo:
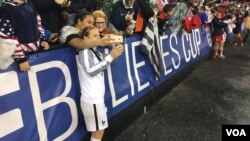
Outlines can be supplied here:
M91 76L95 76L102 72L104 69L108 67L108 65L113 61L113 59L120 56L123 52L123 46L117 45L112 49L109 55L102 58L98 63L94 63L94 58L96 57L90 49L85 49L80 53L80 64L83 69Z

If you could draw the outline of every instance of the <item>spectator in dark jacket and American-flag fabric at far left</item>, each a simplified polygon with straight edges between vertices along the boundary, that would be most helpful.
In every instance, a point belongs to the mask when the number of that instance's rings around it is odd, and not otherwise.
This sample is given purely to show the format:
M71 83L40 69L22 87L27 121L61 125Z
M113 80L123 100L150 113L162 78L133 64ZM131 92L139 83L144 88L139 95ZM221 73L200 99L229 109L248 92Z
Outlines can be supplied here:
M27 16L28 15L28 16ZM15 44L13 54L21 71L30 70L28 52L47 50L41 18L26 0L3 0L0 7L0 38Z

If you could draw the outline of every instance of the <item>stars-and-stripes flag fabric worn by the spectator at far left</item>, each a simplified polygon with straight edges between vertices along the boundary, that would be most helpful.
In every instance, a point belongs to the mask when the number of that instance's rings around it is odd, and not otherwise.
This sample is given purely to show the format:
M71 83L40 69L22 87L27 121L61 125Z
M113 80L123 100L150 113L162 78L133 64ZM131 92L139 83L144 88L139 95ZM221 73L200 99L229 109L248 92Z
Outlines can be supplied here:
M25 1L25 0L24 0ZM3 3L9 4L12 6L18 6L16 3L13 2L13 0L4 0ZM24 2L26 3L26 1ZM44 30L41 25L41 18L39 15L37 15L38 20L38 30L41 34L41 38L44 36ZM20 44L18 42L18 37L15 36L15 27L12 26L11 21L8 19L8 16L3 16L1 14L0 16L0 38L4 39L6 42L15 43L16 44L16 50L13 54L14 58L24 58L25 52L32 52L36 51L40 45L40 41L35 41L28 44Z

